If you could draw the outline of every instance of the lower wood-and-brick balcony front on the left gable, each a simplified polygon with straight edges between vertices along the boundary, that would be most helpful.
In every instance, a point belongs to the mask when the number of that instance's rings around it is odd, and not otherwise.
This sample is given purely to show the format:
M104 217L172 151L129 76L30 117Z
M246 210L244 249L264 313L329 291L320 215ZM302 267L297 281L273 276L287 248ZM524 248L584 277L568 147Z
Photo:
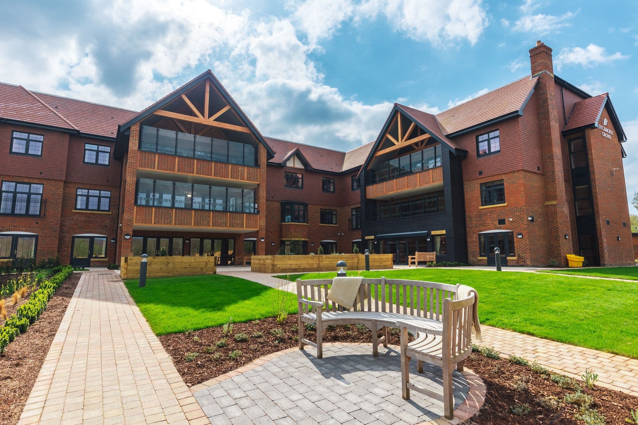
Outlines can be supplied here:
M259 229L259 215L136 205L133 206L133 229L249 233Z

